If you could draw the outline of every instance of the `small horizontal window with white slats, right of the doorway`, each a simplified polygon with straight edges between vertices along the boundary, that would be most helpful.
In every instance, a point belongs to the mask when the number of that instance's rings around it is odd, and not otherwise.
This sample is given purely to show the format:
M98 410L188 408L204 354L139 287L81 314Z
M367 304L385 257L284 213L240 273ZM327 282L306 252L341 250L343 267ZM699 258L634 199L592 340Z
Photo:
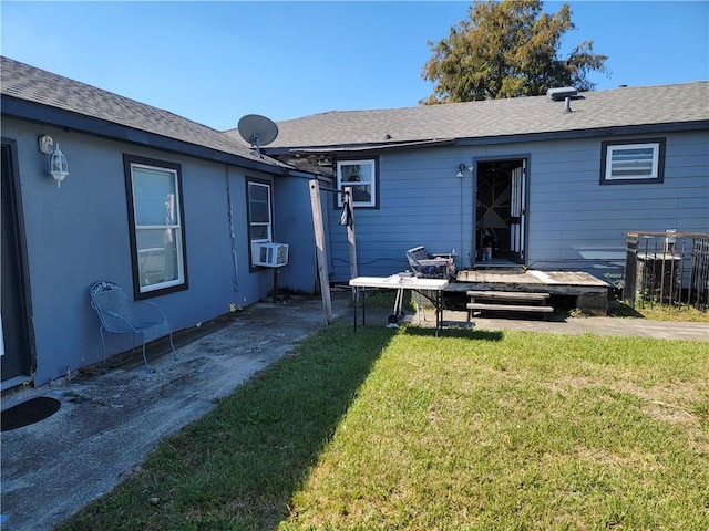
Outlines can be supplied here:
M602 143L600 184L662 183L665 138Z

